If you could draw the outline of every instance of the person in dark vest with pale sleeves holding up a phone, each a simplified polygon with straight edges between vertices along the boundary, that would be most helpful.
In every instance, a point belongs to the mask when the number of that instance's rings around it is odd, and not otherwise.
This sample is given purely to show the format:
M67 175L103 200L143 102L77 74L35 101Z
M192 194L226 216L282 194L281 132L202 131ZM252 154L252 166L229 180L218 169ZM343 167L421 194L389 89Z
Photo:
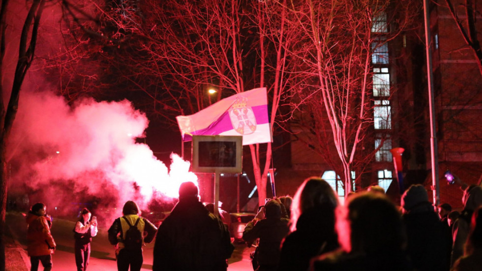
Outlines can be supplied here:
M75 223L75 265L77 271L86 271L90 258L90 242L92 237L97 235L97 218L94 216L90 220L90 211L82 209L79 220Z

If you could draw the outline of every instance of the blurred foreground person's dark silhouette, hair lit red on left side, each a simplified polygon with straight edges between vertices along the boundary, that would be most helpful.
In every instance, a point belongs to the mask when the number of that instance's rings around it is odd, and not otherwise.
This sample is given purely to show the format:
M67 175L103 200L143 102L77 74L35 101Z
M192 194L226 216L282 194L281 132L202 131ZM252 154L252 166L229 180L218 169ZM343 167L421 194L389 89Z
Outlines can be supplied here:
M342 250L314 257L310 271L412 271L400 213L385 195L357 193L335 213Z

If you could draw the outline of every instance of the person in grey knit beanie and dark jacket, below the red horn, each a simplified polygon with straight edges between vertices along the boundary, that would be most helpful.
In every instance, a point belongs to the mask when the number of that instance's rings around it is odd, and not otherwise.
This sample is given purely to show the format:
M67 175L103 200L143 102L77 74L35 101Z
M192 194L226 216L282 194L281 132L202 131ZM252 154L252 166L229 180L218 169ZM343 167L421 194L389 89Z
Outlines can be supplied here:
M425 188L420 184L410 186L401 202L413 267L418 271L448 271L452 246L449 225L440 221Z

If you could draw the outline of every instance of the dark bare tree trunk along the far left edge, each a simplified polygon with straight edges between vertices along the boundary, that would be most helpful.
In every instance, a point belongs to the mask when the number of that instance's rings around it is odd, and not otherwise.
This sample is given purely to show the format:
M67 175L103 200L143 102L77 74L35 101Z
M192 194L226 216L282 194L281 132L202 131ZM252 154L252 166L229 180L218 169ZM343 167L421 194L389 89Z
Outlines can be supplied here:
M0 270L5 270L5 244L3 242L3 235L5 231L5 212L7 203L7 169L6 169L6 146L12 124L15 120L15 115L18 109L18 100L22 83L24 82L25 75L32 64L35 53L35 45L37 42L38 27L40 24L40 18L44 9L45 0L33 0L28 3L28 13L25 17L25 21L22 27L22 33L20 34L19 42L19 55L17 59L17 65L15 68L15 75L13 77L13 84L11 90L6 89L4 84L4 78L2 74L6 69L4 63L5 56L5 43L7 42L6 29L7 29L7 15L9 12L9 1L1 1L0 9L0 164L1 164L1 176L0 176ZM10 93L10 96L8 96ZM4 106L3 98L10 97L7 107Z

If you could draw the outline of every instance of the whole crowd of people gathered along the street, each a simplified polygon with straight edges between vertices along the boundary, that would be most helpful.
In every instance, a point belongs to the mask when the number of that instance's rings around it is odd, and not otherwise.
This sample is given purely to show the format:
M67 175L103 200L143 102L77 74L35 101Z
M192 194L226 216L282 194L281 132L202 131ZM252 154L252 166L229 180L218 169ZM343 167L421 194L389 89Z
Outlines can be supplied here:
M310 177L294 198L267 201L243 232L258 243L255 271L472 271L482 270L482 187L463 190L463 210L434 207L422 185L410 186L395 205L383 188L351 194L344 204L323 179ZM200 202L192 182L157 229L128 201L108 230L119 271L140 271L144 243L153 240L154 271L226 271L233 253L228 226ZM211 208L212 209L212 208ZM31 270L52 269L56 248L43 203L27 215ZM86 271L97 221L88 209L76 222L75 262Z

